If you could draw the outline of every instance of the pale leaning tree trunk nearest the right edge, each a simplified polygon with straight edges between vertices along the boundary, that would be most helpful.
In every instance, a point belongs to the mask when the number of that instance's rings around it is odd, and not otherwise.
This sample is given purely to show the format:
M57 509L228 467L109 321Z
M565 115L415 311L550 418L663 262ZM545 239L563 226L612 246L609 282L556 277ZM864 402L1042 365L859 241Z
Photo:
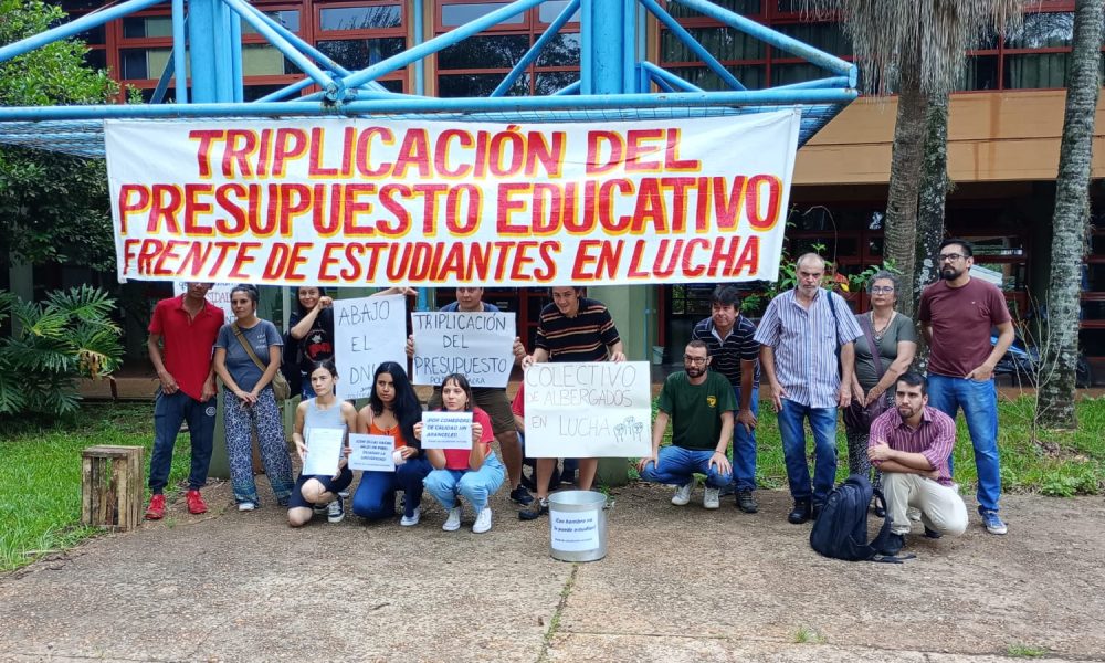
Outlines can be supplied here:
M1052 220L1048 330L1036 391L1036 423L1045 429L1077 425L1074 387L1078 360L1078 295L1090 222L1090 167L1105 0L1077 0L1074 8L1074 45L1067 74L1066 113Z

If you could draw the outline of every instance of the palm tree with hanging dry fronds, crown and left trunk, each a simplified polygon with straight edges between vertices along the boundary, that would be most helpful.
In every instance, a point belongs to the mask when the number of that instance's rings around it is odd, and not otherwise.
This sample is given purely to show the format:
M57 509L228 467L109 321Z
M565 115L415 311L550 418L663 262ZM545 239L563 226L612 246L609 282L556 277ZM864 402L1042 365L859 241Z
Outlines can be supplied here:
M852 39L867 92L898 95L883 254L902 271L903 313L917 302L917 200L930 99L946 98L962 76L967 51L991 27L1020 25L1025 0L803 0L839 15Z

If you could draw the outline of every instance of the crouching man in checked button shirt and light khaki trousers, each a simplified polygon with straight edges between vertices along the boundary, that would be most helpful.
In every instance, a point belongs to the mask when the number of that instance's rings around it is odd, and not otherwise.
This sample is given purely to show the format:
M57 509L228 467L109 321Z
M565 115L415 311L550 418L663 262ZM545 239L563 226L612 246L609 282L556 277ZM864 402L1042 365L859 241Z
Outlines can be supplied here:
M967 529L967 505L951 483L948 459L956 443L956 422L928 406L925 378L909 371L897 380L894 410L871 422L867 456L883 473L883 494L891 515L891 541L883 550L896 555L909 534L906 509L920 509L925 536L959 536Z

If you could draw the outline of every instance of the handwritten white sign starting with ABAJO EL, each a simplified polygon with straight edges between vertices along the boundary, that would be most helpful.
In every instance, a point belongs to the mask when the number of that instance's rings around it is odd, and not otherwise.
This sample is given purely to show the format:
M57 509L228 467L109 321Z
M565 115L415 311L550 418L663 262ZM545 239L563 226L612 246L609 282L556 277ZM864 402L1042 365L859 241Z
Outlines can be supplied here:
M402 295L336 299L334 360L338 398L367 398L372 376L385 361L407 367L407 301Z

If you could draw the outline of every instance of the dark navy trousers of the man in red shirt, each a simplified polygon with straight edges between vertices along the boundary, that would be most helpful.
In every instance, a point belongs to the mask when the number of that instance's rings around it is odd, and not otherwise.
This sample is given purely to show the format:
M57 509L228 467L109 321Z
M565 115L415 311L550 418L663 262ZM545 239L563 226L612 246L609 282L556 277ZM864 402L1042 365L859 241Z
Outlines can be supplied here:
M169 482L172 448L177 444L180 422L188 421L188 436L192 441L192 470L188 487L201 488L207 483L214 444L214 414L217 399L212 396L198 401L183 391L168 394L157 390L154 400L154 452L149 456L149 491L157 495Z

